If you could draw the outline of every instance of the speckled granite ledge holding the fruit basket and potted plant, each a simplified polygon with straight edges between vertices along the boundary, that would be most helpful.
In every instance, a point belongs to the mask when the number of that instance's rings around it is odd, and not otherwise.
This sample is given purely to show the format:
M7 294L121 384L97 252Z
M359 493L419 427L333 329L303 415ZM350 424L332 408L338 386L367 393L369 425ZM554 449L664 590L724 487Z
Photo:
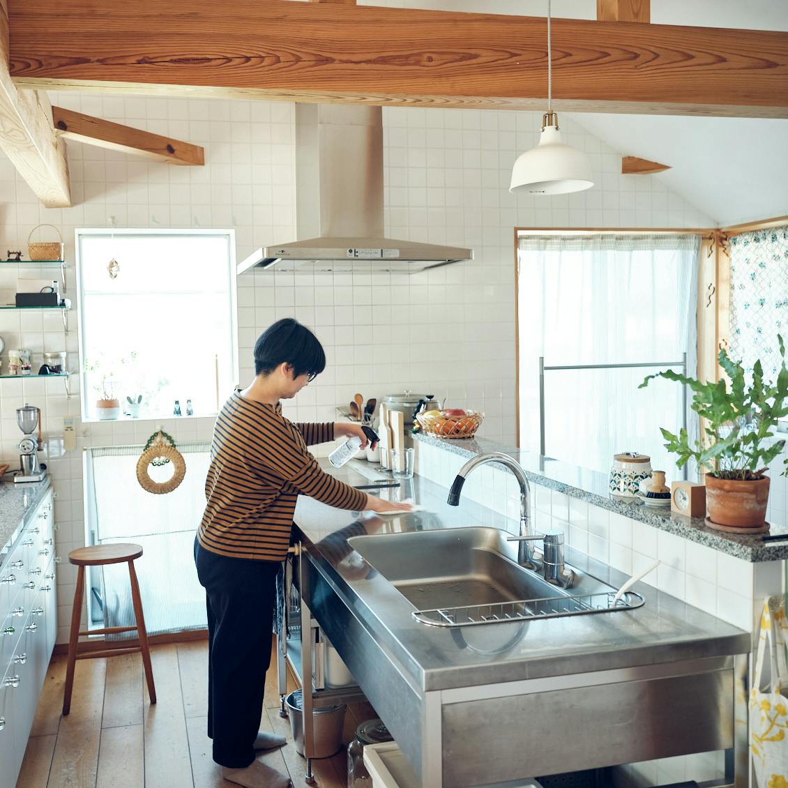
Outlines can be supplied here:
M529 481L542 485L557 492L564 492L572 498L585 500L589 504L615 511L616 514L630 517L631 519L645 522L649 526L658 528L667 533L684 537L689 541L697 542L729 556L760 563L762 561L778 561L788 558L788 523L771 522L770 534L785 535L785 541L766 541L760 536L738 536L733 533L723 533L713 530L705 525L701 518L683 517L670 510L659 511L645 507L640 502L612 498L608 491L608 474L597 470L589 470L562 463L549 457L541 457L531 452L521 452L511 444L501 444L495 440L485 438L470 438L466 440L441 440L430 435L418 434L416 438L430 446L437 446L446 452L471 459L480 454L490 452L504 452L511 455L526 471ZM511 473L505 466L499 466Z

